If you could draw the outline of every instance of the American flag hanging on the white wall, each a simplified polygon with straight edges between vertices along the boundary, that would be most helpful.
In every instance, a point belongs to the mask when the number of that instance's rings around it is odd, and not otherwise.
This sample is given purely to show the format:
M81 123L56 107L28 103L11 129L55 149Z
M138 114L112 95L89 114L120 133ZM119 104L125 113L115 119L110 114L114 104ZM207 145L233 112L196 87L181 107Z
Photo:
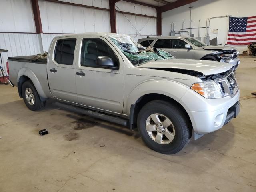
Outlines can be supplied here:
M239 18L237 18L239 19ZM235 22L239 23L239 22ZM229 23L231 24L231 23ZM240 32L240 30L237 30L238 28L235 28L235 30L228 31L228 39L227 44L230 45L249 45L252 42L256 42L256 16L248 17L247 18L247 24L246 24L246 30L245 32Z

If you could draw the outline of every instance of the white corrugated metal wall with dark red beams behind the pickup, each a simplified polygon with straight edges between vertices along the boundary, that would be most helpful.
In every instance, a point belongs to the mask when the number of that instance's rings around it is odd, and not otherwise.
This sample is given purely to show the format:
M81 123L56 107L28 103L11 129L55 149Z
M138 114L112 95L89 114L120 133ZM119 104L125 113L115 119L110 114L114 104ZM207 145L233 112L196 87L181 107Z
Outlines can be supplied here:
M101 8L109 8L108 0L62 0ZM70 6L39 0L40 16L44 33L36 34L30 0L1 0L0 49L4 69L10 56L34 55L48 51L55 36L82 32L110 32L108 11ZM117 2L116 10L156 16L156 10L128 2ZM130 34L137 40L156 35L156 19L116 13L117 33ZM15 33L16 32L16 33Z

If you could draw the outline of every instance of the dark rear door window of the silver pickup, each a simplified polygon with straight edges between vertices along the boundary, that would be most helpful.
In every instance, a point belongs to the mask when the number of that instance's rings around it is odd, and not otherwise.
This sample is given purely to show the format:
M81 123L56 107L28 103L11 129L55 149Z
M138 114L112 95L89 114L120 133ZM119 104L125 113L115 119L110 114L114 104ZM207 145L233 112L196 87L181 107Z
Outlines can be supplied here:
M58 64L73 65L76 39L62 39L56 43L54 60Z

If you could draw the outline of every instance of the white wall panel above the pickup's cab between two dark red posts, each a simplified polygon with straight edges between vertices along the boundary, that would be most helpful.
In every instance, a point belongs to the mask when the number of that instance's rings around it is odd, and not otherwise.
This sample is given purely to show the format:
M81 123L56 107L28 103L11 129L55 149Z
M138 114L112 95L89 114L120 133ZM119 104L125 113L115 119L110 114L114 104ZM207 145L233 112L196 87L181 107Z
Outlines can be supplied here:
M41 0L39 8L44 33L110 32L108 11Z

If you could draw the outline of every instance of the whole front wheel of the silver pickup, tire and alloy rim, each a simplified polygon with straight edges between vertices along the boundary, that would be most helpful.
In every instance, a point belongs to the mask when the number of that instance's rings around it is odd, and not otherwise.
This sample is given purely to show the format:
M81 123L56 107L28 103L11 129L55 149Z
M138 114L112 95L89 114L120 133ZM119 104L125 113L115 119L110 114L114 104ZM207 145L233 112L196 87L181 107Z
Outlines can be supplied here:
M142 140L160 153L175 154L190 140L190 122L175 104L149 102L140 110L137 123Z

